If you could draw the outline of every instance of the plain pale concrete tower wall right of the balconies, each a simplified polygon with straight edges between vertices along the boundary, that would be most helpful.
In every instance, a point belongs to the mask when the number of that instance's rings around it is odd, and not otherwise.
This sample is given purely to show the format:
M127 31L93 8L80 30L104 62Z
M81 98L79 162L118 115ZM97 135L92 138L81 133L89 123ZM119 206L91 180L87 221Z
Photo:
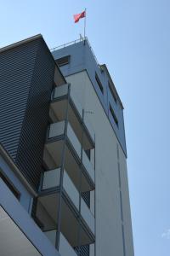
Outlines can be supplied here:
M86 71L76 73L68 76L66 80L76 90L96 136L96 256L133 256L126 156L96 95L88 73ZM91 252L93 251L92 247Z

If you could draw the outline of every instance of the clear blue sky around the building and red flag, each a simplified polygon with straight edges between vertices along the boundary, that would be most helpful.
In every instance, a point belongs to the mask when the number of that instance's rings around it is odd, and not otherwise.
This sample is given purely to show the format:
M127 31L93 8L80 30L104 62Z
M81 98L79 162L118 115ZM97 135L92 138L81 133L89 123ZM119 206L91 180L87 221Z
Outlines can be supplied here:
M170 1L0 1L0 47L42 33L52 48L87 34L125 107L135 256L170 255ZM110 255L105 255L110 256Z

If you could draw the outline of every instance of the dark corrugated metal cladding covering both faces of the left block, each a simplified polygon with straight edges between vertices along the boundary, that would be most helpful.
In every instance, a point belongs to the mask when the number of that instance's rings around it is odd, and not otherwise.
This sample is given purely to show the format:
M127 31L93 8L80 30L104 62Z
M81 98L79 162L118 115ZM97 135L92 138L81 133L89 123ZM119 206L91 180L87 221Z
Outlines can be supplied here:
M0 54L0 142L37 189L54 61L42 38Z

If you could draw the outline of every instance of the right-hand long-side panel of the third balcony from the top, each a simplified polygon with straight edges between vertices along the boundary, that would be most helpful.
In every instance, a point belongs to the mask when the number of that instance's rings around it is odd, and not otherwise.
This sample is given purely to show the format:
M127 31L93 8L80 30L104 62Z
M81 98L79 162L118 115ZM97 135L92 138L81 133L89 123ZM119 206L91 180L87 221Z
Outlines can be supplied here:
M94 233L94 215L92 214L92 212L90 212L87 204L85 203L85 201L83 201L83 199L81 199L81 214L86 223L88 224L90 230L92 230L92 232Z

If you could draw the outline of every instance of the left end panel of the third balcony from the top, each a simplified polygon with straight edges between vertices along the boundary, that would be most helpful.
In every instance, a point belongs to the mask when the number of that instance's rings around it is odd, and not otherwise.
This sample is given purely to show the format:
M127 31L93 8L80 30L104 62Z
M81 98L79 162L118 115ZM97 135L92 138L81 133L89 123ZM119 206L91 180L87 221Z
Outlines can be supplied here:
M42 190L59 186L60 168L44 172Z

